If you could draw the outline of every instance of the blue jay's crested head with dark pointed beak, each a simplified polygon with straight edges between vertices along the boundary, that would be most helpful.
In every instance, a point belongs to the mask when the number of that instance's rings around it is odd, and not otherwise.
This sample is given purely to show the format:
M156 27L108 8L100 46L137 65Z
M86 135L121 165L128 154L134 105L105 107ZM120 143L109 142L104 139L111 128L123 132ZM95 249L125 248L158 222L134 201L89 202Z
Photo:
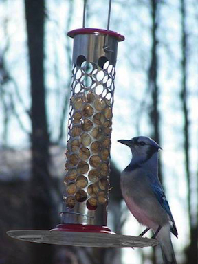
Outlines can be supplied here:
M150 137L133 137L131 140L118 140L118 142L129 146L135 162L145 162L150 159L154 153L162 149L157 142Z

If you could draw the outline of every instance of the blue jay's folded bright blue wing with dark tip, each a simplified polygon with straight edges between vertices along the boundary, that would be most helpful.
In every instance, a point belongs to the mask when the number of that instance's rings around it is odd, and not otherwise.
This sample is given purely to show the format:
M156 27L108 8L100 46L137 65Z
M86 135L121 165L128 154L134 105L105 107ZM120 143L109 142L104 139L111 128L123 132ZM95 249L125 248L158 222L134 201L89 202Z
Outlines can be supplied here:
M170 211L170 206L168 204L168 201L166 200L164 190L163 190L161 184L159 183L159 179L157 177L151 177L150 179L151 179L151 181L150 181L151 182L151 189L153 190L155 197L157 198L157 201L159 201L160 205L162 206L162 208L164 208L164 210L166 211L166 213L170 217L170 221L172 222L171 232L177 237L178 233L177 233L175 221L174 221L173 215Z

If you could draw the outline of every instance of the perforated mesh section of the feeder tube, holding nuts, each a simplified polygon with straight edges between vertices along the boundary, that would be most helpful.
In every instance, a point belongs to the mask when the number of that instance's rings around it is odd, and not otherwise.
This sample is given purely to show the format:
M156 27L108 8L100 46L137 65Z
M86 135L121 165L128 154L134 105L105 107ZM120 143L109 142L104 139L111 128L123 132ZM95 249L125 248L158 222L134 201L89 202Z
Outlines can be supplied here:
M72 94L66 151L65 203L106 204L115 67L104 56L88 63L78 56L72 67Z

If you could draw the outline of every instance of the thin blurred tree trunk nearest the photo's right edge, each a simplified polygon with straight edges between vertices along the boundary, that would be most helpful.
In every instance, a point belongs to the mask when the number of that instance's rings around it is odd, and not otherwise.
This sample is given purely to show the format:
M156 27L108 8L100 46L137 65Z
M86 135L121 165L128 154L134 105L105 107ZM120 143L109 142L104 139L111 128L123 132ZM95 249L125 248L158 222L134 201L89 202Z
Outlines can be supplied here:
M186 31L186 3L187 1L181 0L181 105L184 115L184 156L185 156L185 168L186 168L186 180L188 188L188 218L190 223L190 245L186 250L186 263L193 264L198 263L198 219L196 219L196 213L192 212L192 175L190 174L190 122L188 111L188 86L187 86L187 68L188 68L188 45L187 45L187 31ZM194 221L193 221L194 219ZM196 220L195 220L196 219Z

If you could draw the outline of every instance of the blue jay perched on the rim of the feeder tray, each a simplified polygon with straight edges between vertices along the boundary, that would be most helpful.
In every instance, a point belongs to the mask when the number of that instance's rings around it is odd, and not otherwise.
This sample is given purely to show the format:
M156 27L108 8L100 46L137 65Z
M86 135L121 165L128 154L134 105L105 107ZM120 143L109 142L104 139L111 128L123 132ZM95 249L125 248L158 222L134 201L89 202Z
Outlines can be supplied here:
M121 173L120 184L126 206L135 219L146 226L140 236L153 230L153 238L159 241L162 249L164 264L177 264L170 232L176 237L178 232L158 177L159 150L162 148L146 136L118 142L129 146L132 152L130 164Z

